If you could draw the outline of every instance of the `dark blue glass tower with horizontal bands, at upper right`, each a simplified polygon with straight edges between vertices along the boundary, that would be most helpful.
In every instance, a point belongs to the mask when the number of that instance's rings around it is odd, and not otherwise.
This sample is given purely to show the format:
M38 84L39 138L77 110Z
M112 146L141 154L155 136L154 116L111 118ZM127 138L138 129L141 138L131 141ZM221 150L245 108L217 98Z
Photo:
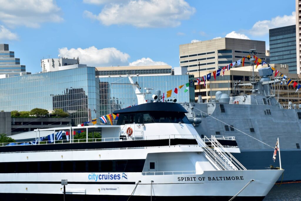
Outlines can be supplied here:
M289 73L297 73L296 25L269 30L270 62L288 64Z

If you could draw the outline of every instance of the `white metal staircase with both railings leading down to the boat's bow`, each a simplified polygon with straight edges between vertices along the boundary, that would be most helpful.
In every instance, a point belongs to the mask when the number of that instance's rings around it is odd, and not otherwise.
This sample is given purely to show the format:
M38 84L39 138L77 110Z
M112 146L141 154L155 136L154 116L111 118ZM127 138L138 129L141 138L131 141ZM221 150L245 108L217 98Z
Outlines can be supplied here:
M195 135L195 139L206 155L206 158L213 164L217 170L246 170L246 168L234 158L217 140L212 136L211 140L205 136L204 140L211 142L208 146L200 138Z

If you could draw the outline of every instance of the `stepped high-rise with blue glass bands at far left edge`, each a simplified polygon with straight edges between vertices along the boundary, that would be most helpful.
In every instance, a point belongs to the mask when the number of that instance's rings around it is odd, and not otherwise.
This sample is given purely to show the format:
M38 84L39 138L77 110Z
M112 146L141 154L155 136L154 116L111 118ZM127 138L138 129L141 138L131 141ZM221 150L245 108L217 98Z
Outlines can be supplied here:
M8 44L0 44L0 74L14 72L20 75L20 72L25 71L25 65L20 65L20 58L15 58L15 53L9 51ZM10 73L10 75L13 74Z

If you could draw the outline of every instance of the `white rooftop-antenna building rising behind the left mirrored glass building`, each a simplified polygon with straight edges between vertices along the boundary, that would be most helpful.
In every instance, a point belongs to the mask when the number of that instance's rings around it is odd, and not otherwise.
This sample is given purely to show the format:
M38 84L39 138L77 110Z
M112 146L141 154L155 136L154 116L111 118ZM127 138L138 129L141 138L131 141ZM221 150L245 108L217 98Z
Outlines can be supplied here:
M52 71L61 71L73 68L86 67L85 64L79 64L79 58L69 59L69 58L48 58L41 59L41 68L42 72L52 72Z

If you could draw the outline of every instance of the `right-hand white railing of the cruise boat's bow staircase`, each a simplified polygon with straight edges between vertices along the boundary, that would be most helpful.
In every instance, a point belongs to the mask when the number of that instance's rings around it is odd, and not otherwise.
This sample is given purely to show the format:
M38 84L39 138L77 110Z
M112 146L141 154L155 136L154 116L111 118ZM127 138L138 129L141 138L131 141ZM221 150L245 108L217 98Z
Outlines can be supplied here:
M237 168L238 170L247 170L244 165L242 165L227 149L225 149L224 146L222 146L221 143L219 143L219 141L216 139L215 136L212 136L212 146L215 149L219 149L220 152L219 154L222 155L222 157L224 157L225 159L228 159L232 165L234 165L235 168Z

